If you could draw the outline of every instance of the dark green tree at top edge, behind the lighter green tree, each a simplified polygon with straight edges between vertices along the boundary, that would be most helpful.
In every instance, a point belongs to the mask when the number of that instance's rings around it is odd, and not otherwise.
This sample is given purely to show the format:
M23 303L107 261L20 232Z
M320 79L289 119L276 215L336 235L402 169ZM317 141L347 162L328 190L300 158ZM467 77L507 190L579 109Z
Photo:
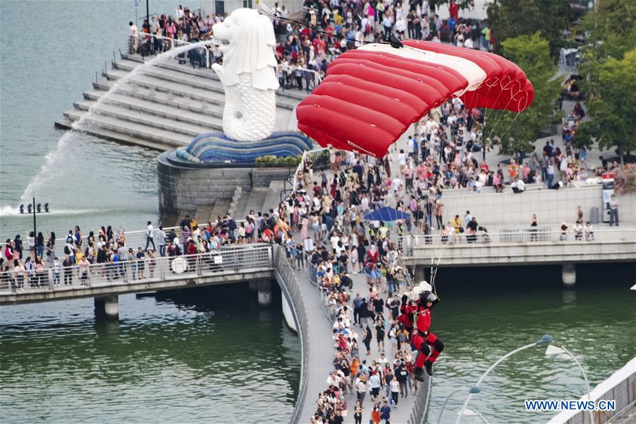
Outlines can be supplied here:
M563 47L563 30L572 15L567 0L495 0L488 5L487 13L495 35L495 52L502 53L508 38L539 31L550 43L553 58Z

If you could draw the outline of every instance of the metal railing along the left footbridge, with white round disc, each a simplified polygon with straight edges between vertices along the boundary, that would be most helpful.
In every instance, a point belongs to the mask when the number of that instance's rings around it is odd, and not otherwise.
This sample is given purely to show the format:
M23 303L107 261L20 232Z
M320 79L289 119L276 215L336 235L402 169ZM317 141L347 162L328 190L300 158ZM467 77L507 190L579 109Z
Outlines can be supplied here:
M271 267L271 246L258 243L202 254L154 259L146 256L144 259L105 264L47 268L40 272L14 268L0 273L0 297L11 293L160 283L166 280L213 276L221 272Z

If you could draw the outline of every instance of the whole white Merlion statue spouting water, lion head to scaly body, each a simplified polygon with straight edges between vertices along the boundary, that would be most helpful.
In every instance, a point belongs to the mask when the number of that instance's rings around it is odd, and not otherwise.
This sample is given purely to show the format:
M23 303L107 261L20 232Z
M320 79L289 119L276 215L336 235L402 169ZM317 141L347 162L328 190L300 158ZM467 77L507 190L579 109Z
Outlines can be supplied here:
M223 131L237 141L267 139L276 122L276 45L269 18L250 8L232 12L212 27L223 52L213 64L225 89Z

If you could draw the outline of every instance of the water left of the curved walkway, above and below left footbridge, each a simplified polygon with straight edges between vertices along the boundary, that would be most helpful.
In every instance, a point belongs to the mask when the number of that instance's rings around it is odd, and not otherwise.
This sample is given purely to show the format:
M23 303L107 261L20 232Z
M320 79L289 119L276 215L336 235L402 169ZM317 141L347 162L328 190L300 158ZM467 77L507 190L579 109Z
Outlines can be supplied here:
M177 6L150 3L151 13ZM18 215L32 196L52 211L37 217L38 230L58 237L74 225L139 230L156 222L156 152L86 134L58 146L64 131L53 127L126 46L134 0L1 1L0 9L2 240L33 228ZM92 299L2 307L0 420L288 421L298 338L280 305L259 310L255 295L245 304L248 295L239 286L160 300L120 296L119 325L96 324Z

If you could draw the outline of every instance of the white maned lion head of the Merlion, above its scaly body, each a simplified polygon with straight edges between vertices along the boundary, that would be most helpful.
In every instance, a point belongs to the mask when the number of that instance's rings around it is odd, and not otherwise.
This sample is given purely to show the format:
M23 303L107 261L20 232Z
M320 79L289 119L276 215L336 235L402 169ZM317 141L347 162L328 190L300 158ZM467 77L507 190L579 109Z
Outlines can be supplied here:
M214 38L223 52L224 85L239 82L242 73L252 73L252 86L260 90L278 89L276 37L271 20L251 8L233 11L223 22L212 27Z

